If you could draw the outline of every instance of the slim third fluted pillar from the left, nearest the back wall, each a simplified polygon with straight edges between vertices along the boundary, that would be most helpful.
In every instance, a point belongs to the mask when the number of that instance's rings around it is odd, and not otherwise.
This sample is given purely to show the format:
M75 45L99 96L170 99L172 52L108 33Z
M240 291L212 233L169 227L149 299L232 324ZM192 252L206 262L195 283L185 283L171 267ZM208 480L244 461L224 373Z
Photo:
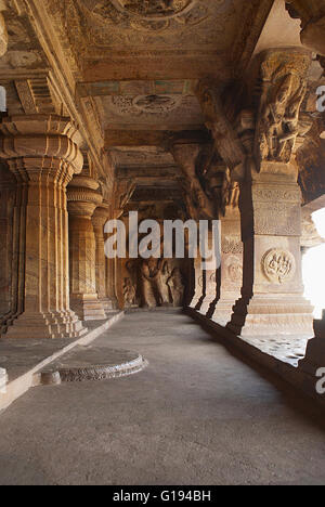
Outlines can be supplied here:
M109 206L99 206L92 217L94 235L96 240L96 290L99 299L104 307L105 312L115 308L107 294L107 269L108 263L105 256L104 226L108 220ZM110 268L112 270L112 268ZM110 273L112 274L112 273Z

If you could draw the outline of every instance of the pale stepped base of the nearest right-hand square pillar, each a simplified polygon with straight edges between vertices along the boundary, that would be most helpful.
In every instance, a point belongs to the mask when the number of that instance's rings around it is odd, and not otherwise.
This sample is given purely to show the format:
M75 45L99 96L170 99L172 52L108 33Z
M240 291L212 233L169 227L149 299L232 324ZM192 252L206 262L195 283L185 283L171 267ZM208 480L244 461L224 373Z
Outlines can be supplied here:
M302 296L239 299L226 326L237 336L313 336L313 307Z

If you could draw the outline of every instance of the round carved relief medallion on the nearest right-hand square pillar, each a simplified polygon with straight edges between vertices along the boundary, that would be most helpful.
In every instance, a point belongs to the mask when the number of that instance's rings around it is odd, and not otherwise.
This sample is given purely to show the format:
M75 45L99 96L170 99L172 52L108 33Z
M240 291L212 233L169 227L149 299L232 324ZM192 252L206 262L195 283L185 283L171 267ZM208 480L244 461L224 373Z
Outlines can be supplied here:
M296 259L290 251L273 248L262 259L262 271L270 282L284 284L296 273Z

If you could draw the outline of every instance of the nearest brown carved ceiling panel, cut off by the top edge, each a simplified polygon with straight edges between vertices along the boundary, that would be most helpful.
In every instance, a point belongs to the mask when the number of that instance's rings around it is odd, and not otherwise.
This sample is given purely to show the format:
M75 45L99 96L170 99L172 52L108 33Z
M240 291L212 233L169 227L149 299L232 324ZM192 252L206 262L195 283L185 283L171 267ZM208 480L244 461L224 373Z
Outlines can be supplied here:
M48 0L48 3L52 3ZM243 23L243 0L65 0L61 10L70 40L86 58L126 51L225 51Z

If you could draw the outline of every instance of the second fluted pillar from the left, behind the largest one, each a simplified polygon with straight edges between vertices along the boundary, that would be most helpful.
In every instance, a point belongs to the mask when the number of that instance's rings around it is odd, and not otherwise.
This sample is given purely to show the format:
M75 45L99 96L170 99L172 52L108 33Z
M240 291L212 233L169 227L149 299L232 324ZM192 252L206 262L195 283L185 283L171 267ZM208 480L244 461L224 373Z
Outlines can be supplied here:
M106 318L96 291L96 240L92 216L103 197L99 183L90 177L74 178L68 186L70 299L81 321Z

